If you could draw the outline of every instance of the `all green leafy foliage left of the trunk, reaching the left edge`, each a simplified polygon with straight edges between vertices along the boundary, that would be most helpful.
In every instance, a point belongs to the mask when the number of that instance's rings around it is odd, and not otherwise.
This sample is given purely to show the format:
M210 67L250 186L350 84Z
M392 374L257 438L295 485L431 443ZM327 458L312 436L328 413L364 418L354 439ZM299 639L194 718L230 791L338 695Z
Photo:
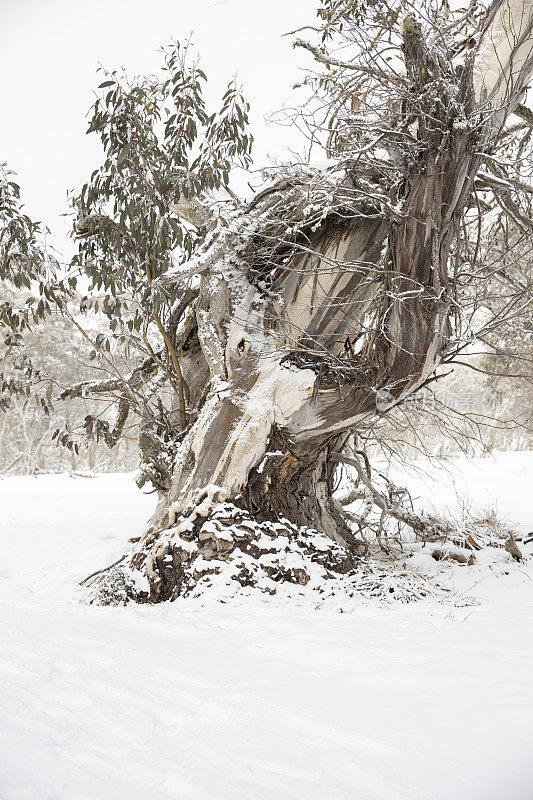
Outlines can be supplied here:
M69 265L49 257L44 230L24 213L12 173L4 166L0 174L0 278L15 290L0 305L0 404L7 407L18 392L36 397L49 413L57 384L32 366L24 331L64 315L86 341L88 361L110 380L62 387L60 397L109 386L108 396L122 403L115 427L92 415L84 425L109 446L131 409L138 418L155 418L147 382L158 375L179 399L179 427L187 423L175 334L195 295L184 288L170 297L158 279L204 240L211 220L197 209L208 205L207 197L231 199L232 167L250 163L249 106L240 89L232 81L220 107L208 109L206 75L189 51L177 43L164 49L159 75L102 69L87 133L99 137L103 160L70 198L77 252ZM56 437L75 446L64 431Z

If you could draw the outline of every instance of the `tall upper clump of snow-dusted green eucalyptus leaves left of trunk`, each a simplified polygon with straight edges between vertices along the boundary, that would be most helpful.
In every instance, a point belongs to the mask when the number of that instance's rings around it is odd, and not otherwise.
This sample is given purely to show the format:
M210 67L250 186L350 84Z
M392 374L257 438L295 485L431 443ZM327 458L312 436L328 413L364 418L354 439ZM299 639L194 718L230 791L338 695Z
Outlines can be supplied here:
M77 209L79 252L73 264L105 292L102 307L119 326L124 302L135 311L130 330L161 313L166 297L151 286L190 257L205 228L180 218L180 201L227 188L233 164L247 166L251 137L248 105L234 83L222 107L208 113L204 72L187 63L187 48L163 51L164 79L105 73L88 133L96 133L104 161L72 202Z

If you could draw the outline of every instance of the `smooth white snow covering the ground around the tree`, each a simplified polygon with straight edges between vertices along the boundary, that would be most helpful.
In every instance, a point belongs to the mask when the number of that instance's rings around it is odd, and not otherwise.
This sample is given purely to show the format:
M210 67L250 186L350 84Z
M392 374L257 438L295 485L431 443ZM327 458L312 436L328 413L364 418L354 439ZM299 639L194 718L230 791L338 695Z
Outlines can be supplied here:
M452 477L533 529L532 453ZM153 503L128 475L0 480L0 800L531 800L531 557L446 567L449 603L84 605Z

